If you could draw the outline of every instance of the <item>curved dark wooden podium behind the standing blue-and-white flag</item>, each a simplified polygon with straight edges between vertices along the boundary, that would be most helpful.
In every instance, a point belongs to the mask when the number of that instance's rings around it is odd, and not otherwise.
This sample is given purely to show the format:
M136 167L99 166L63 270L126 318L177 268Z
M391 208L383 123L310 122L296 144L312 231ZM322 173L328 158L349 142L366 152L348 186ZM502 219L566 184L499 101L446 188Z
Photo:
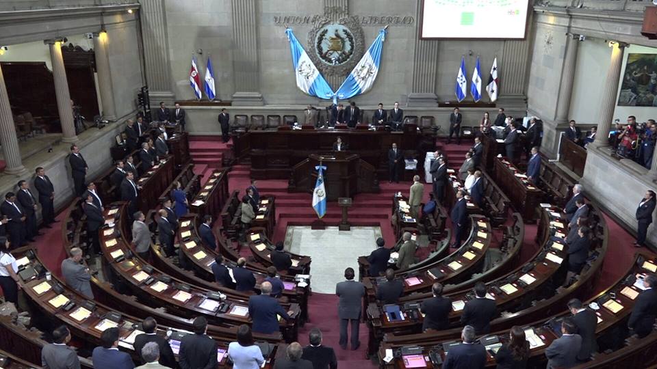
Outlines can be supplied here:
M357 193L378 193L376 169L360 159L357 154L331 152L329 154L310 154L308 159L292 167L287 191L312 192L317 182L315 166L324 165L324 187L326 200L335 201L339 197L354 197Z

